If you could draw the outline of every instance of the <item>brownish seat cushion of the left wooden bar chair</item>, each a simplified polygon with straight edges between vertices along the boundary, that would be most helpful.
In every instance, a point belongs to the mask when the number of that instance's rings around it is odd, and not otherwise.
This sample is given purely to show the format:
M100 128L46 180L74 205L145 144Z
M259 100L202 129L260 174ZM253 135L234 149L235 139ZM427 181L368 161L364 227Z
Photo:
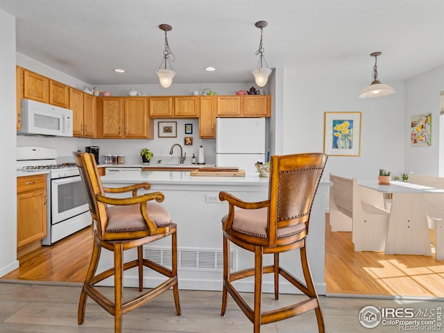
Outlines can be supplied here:
M140 214L140 205L111 206L106 210L108 216L107 232L128 232L147 230ZM147 203L146 213L158 228L171 224L171 215L162 205Z

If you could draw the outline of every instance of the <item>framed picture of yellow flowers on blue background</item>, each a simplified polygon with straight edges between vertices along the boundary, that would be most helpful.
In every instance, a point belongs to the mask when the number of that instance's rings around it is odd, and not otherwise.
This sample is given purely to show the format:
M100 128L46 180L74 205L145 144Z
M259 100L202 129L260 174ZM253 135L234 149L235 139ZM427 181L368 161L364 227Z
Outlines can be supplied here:
M324 153L361 155L361 112L324 112Z

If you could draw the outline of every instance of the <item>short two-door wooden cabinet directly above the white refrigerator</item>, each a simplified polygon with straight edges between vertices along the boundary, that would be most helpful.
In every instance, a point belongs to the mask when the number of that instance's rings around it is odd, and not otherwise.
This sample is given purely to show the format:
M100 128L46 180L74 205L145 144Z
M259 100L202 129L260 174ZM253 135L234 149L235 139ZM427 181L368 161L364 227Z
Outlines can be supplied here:
M270 117L270 95L217 96L217 117Z

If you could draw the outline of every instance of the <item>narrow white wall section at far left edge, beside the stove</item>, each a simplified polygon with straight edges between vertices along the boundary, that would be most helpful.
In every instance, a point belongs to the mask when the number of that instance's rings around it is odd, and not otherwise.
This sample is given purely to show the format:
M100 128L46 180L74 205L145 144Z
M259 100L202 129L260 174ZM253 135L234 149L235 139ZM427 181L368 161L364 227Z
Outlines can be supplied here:
M17 182L15 180L15 18L0 10L0 276L17 261Z

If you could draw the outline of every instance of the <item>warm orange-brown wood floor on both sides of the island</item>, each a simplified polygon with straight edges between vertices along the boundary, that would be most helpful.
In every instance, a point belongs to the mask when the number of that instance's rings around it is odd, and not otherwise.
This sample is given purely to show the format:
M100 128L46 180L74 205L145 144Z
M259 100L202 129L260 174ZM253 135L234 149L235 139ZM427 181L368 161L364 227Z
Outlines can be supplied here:
M328 214L327 214L328 221ZM325 224L325 282L330 294L444 297L444 261L420 255L355 252L350 232ZM20 259L3 280L83 282L92 251L86 228Z

